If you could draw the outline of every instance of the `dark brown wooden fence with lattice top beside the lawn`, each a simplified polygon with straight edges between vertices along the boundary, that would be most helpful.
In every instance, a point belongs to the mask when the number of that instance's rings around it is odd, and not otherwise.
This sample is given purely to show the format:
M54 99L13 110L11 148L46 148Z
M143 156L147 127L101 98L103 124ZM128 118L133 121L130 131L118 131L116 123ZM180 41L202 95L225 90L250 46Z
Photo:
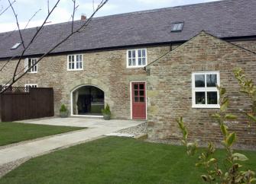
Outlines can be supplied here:
M50 116L54 116L53 88L11 87L0 95L2 122Z

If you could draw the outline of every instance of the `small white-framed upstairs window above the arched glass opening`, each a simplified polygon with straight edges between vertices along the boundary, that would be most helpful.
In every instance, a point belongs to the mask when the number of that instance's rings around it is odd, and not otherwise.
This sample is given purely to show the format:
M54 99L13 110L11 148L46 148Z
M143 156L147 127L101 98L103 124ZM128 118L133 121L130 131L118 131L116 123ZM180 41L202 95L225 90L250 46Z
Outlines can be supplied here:
M68 55L67 56L67 70L83 70L83 55Z

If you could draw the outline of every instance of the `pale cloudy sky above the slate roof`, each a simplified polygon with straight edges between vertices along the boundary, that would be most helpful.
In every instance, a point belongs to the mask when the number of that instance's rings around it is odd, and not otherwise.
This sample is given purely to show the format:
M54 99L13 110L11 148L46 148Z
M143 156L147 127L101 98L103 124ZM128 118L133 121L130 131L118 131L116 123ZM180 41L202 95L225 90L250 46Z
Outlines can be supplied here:
M40 26L47 16L47 1L49 1L50 8L53 8L53 5L57 2L57 0L9 1L15 1L13 7L21 28L26 27L28 22L27 27ZM95 17L214 1L216 0L109 0L109 2L97 12ZM76 0L78 8L74 20L79 20L82 14L86 14L86 16L89 17L93 12L92 2L94 2L94 7L96 8L101 0ZM8 5L8 0L0 0L0 33L17 30L15 15L11 11L11 8L8 8L8 10L2 14L2 11L5 10ZM37 12L37 14L35 14L35 12ZM72 12L73 0L60 0L60 4L53 11L53 14L50 15L47 24L71 21ZM33 17L34 14L35 16ZM31 19L31 17L33 18ZM30 19L31 21L29 21Z

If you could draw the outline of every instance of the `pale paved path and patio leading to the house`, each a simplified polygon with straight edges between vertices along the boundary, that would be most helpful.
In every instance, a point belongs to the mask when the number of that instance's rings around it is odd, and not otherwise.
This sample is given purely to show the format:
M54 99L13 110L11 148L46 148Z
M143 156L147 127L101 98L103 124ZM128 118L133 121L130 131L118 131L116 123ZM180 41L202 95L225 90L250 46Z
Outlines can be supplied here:
M103 119L82 119L82 118L54 118L37 119L22 121L40 125L67 125L88 127L85 130L69 132L62 135L54 135L50 138L44 138L38 141L25 142L9 148L0 149L0 167L5 163L10 163L23 158L36 157L41 154L47 154L60 148L67 148L75 144L94 140L102 135L116 132L123 128L139 125L141 121L129 120L110 120Z

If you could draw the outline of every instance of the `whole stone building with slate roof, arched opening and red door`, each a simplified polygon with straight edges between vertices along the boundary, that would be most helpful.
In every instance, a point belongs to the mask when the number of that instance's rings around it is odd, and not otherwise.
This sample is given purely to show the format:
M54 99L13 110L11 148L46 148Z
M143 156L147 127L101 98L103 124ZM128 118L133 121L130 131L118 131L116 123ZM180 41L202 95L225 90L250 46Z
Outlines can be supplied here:
M192 138L218 141L209 114L219 109L221 84L232 98L230 110L248 109L232 69L256 81L256 2L225 0L96 17L80 33L54 49L15 86L53 87L56 115L61 104L70 116L147 119L151 139L176 141L175 119L184 116ZM86 20L75 21L75 27ZM24 53L23 71L69 33L71 23L44 26ZM36 28L21 30L28 44ZM8 84L21 55L18 31L0 33L0 83ZM255 147L256 128L245 117L230 122L239 144Z

